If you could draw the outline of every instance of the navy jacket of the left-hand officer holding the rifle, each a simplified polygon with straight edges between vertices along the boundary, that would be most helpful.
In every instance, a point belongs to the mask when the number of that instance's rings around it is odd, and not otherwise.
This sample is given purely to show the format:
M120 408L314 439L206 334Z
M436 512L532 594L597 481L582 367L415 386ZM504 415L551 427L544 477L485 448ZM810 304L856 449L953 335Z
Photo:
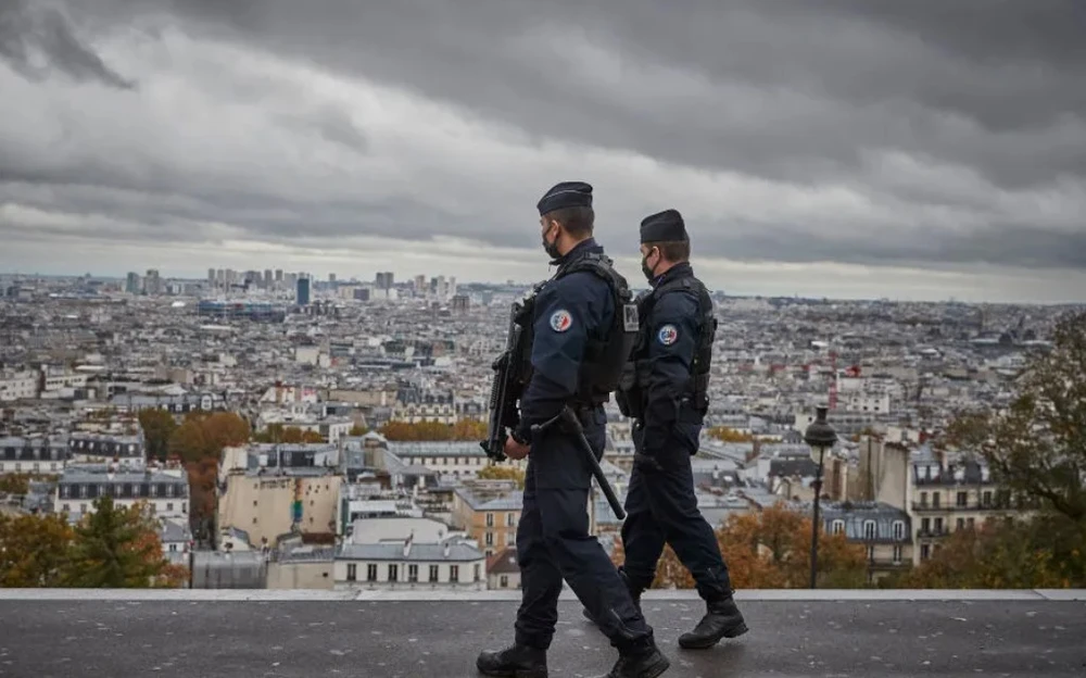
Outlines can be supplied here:
M603 254L604 248L589 238L552 263L560 267L589 253ZM588 339L605 339L614 313L607 282L588 271L552 278L539 291L532 317L532 378L520 398L518 438L530 440L533 424L556 416L572 400Z

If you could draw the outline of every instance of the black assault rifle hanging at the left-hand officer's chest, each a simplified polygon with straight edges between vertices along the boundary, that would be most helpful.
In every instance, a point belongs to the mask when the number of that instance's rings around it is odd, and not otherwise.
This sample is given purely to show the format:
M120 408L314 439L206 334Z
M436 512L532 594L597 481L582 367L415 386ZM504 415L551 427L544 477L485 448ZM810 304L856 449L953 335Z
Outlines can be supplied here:
M509 331L505 340L505 351L491 365L494 380L490 387L490 425L487 429L487 440L479 443L487 456L495 462L504 462L505 441L508 438L506 429L516 428L520 424L520 413L517 401L528 381L525 373L525 328L517 322L527 310L527 303L516 302L509 316Z

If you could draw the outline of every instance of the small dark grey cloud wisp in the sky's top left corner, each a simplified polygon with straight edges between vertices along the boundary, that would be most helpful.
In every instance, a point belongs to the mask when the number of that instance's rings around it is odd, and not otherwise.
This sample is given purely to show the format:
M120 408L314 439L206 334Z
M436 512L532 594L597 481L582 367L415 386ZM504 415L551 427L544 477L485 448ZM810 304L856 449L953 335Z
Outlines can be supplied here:
M35 63L38 53L45 65ZM29 0L0 2L0 59L33 79L59 71L76 80L96 80L118 89L136 86L84 45L59 9L31 7Z

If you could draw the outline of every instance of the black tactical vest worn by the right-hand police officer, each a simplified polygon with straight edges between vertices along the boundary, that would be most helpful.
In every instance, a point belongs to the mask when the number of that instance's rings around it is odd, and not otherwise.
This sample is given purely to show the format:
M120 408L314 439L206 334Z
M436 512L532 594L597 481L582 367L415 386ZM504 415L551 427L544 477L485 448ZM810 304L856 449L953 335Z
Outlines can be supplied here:
M642 323L641 331L637 332L637 341L623 368L621 385L616 393L616 400L623 416L634 419L644 418L652 373L648 349L653 337L649 336L652 325L647 321L652 317L653 309L661 297L681 290L694 292L697 296L698 337L697 346L694 349L694 360L691 363L690 378L682 385L679 399L689 399L694 411L702 416L705 416L709 409L709 369L712 366L712 341L717 335L717 317L712 312L712 299L709 298L709 291L705 289L705 285L693 276L686 276L668 280L637 300L639 316L645 322Z

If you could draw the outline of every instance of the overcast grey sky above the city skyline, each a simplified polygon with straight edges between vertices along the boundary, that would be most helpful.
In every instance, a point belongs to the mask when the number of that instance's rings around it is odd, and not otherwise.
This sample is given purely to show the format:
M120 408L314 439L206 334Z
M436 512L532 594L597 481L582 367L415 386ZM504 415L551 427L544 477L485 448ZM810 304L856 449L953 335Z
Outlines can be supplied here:
M584 180L631 278L1086 301L1086 2L582 4L0 0L0 271L535 280Z

